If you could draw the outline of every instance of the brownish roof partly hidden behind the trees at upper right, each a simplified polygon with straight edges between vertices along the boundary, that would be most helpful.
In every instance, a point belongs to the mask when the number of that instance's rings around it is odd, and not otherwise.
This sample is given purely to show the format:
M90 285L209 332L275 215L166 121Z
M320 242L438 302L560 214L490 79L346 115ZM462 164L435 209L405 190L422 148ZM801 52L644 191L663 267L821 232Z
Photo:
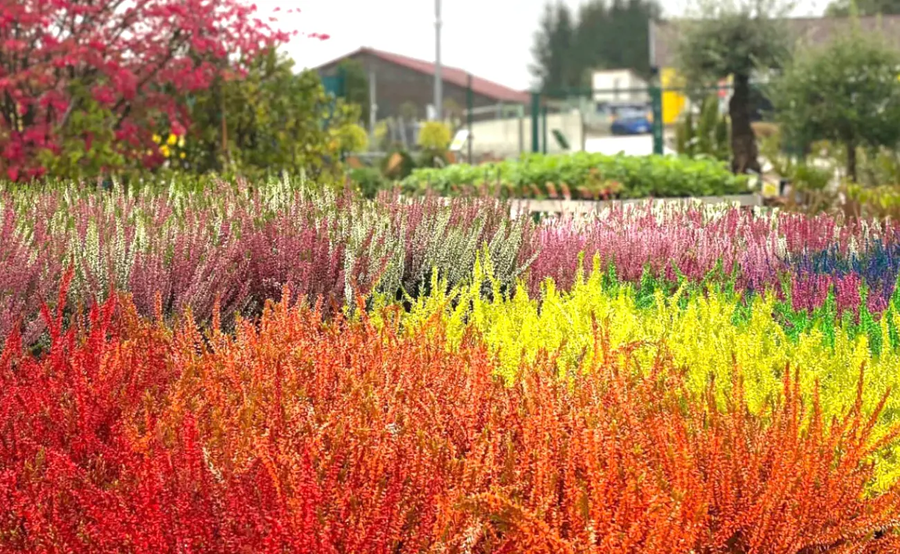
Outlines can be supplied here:
M884 36L900 48L900 15L860 17L863 32L882 32ZM651 23L650 63L657 68L672 68L677 64L680 24L682 21ZM850 30L852 23L848 17L792 17L787 20L788 32L792 40L806 45L819 45L831 41L842 32Z

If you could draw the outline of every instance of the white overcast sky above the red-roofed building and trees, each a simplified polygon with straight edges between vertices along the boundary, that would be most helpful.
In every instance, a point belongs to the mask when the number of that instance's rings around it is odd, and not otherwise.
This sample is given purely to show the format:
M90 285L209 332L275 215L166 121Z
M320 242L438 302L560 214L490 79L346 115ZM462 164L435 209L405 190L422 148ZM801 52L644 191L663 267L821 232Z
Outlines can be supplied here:
M279 14L285 31L324 32L329 41L295 38L287 51L302 67L315 67L361 46L413 58L435 59L434 0L255 0L262 14L275 6L299 8ZM577 8L581 0L563 0ZM666 15L680 14L690 0L662 0ZM525 89L532 77L531 46L545 0L444 0L442 54L445 65L506 86ZM821 11L824 0L801 0L797 14Z

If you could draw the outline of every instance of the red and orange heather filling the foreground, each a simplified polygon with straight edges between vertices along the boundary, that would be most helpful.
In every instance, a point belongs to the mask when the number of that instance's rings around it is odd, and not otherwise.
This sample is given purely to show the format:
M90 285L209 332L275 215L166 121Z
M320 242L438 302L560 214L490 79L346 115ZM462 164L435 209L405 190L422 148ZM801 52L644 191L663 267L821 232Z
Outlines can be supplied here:
M48 355L0 354L0 551L886 552L869 497L878 413L826 425L797 379L755 416L670 359L506 386L474 337L292 305L233 334L128 302ZM390 317L388 318L390 321ZM608 350L602 333L599 349ZM861 382L861 381L860 381ZM879 408L880 411L880 408Z

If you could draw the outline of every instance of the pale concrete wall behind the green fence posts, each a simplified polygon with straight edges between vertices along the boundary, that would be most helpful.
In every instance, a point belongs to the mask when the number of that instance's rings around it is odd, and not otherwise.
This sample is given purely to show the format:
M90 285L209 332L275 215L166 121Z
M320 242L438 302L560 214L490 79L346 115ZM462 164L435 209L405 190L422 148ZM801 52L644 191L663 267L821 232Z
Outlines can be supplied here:
M569 141L571 151L584 150L584 120L580 112L547 114L547 152L561 153L563 149L554 139L554 129L563 133ZM538 133L540 140L543 141L544 132L540 122ZM521 123L518 118L475 122L472 124L472 135L474 156L491 153L498 157L515 157L520 153L520 144L521 151L531 151L531 118L526 116L522 118Z

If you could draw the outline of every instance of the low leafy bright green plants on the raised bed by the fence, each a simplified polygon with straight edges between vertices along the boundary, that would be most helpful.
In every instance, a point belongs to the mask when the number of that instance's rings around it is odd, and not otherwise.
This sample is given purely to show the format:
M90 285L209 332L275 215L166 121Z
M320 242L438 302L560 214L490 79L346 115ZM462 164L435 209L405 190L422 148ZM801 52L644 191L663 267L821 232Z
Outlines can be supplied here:
M715 159L587 152L416 169L402 181L407 194L430 189L440 195L463 195L480 190L506 198L738 195L746 193L747 186L747 177L735 176Z

